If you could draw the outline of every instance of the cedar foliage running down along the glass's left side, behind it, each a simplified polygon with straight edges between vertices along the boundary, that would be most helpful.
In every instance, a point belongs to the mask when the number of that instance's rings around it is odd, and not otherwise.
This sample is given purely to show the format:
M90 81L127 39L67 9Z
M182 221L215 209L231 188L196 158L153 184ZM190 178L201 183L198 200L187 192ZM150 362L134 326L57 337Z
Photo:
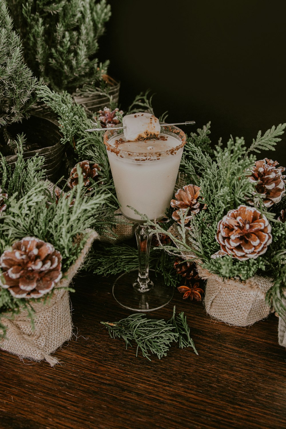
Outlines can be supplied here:
M68 174L76 163L89 160L99 164L101 168L100 181L98 184L90 179L91 188L96 195L104 194L105 202L94 212L93 218L96 222L96 231L102 236L112 238L115 236L110 229L117 223L114 211L118 208L115 196L114 184L111 176L108 156L103 143L103 133L84 131L89 128L100 127L99 123L94 123L87 118L84 108L72 102L72 97L64 91L57 94L47 86L39 87L37 94L39 100L44 101L51 109L57 113L60 123L60 131L63 135L62 143L69 143L69 157L67 160Z

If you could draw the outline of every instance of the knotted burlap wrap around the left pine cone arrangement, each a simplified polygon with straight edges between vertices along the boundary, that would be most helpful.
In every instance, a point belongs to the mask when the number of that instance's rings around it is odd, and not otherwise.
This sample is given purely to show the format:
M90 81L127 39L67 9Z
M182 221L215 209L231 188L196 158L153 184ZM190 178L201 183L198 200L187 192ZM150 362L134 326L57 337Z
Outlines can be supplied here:
M98 234L87 230L87 241L75 263L63 275L57 288L45 304L33 303L35 310L35 329L32 329L27 311L17 314L13 320L1 318L7 326L5 339L0 340L0 348L20 358L30 358L36 361L46 360L51 366L59 361L51 356L58 347L72 336L72 318L69 304L69 293L59 287L67 287L74 275L78 272L84 257Z

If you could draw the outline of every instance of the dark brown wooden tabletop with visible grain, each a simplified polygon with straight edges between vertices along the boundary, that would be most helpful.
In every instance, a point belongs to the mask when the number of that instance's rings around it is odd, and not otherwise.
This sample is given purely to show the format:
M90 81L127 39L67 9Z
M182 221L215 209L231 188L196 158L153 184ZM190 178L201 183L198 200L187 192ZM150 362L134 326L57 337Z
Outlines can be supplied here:
M286 427L286 351L273 314L231 327L175 292L148 317L169 319L173 305L184 311L199 356L175 344L149 362L100 324L131 313L113 299L112 280L76 278L77 338L56 352L61 365L21 362L0 350L1 429Z

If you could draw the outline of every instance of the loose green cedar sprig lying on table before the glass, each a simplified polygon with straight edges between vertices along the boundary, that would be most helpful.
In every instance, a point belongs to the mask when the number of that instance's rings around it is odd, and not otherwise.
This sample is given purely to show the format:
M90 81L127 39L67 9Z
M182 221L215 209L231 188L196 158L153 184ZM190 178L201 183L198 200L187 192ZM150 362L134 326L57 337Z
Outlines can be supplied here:
M142 355L148 360L150 355L156 354L159 359L167 356L171 343L179 342L179 347L193 347L198 354L196 347L190 338L190 328L187 325L187 317L181 312L175 317L175 306L173 316L167 322L163 319L154 320L145 318L146 314L135 313L121 319L118 322L100 322L106 329L111 338L123 338L128 345L132 347L130 341L137 344L136 357L138 350L141 349ZM151 353L148 353L150 351Z

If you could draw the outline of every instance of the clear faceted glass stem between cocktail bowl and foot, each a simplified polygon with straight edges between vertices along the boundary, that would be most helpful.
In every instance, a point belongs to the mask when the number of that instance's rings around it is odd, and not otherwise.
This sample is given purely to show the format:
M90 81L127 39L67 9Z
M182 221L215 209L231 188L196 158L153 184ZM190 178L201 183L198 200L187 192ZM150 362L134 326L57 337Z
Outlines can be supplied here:
M138 278L133 283L133 287L138 292L148 292L154 286L149 278L149 252L152 234L149 232L148 225L139 224L135 228L135 235L138 245Z

